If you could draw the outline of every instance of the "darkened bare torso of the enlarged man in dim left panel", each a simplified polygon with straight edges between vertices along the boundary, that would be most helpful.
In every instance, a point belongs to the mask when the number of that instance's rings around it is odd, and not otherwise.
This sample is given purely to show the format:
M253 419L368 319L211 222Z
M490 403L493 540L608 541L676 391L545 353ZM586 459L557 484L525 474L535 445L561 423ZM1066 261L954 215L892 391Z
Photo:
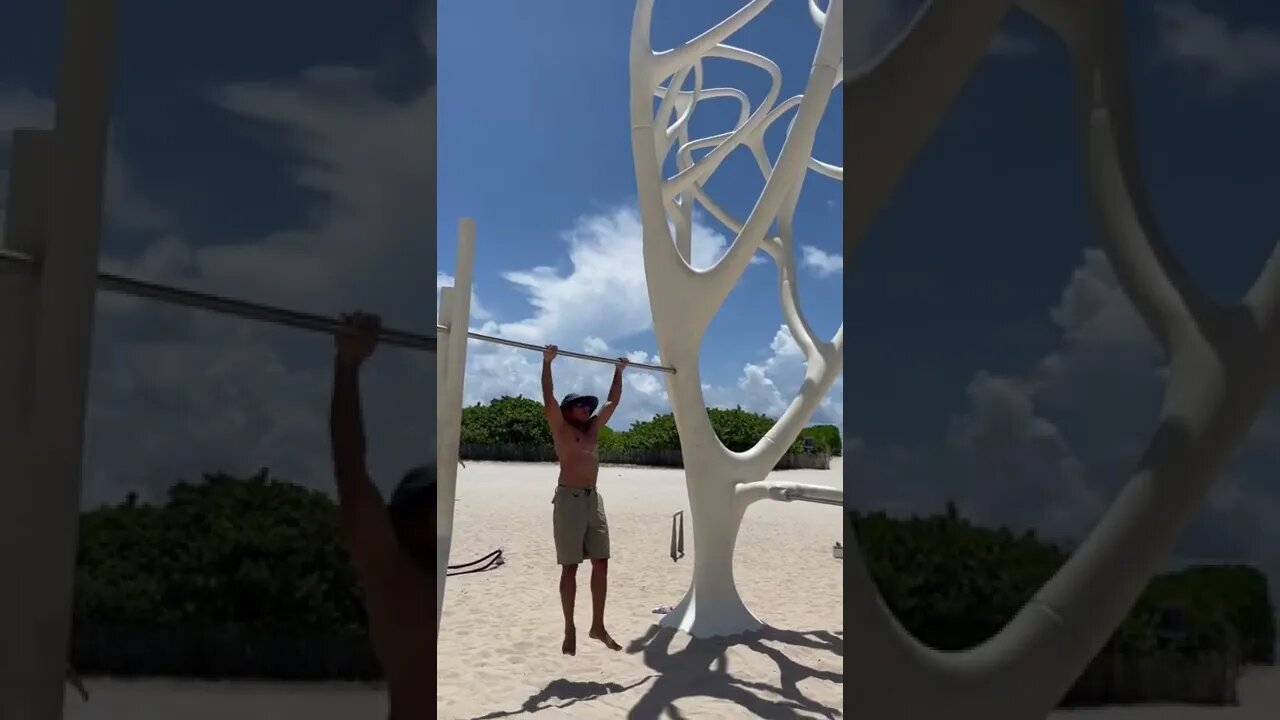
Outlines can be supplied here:
M369 635L387 676L390 719L435 716L435 585L407 555L362 578Z

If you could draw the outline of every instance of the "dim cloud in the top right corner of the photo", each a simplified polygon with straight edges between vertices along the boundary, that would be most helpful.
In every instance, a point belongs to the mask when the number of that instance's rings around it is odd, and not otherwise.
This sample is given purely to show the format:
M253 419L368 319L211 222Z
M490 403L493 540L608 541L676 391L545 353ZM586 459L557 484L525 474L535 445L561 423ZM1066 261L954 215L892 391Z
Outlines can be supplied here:
M1155 6L1160 54L1167 63L1202 76L1212 92L1280 77L1280 32L1231 27L1192 3Z

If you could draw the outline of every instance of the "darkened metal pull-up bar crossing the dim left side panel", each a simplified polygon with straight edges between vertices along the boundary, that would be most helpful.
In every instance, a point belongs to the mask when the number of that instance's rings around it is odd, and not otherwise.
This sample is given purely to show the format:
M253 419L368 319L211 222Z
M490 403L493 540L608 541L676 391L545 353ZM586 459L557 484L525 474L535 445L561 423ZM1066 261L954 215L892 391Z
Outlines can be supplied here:
M13 252L12 250L0 250L0 269L35 273L36 261L29 255ZM297 310L285 310L282 307L273 307L270 305L247 302L244 300L233 300L230 297L150 283L113 273L100 272L97 274L97 288L102 292L128 295L131 297L165 302L168 305L178 305L182 307L205 310L209 313L218 313L220 315L232 315L260 323L287 325L317 333L332 334L340 328L337 318L328 318L325 315L315 315L311 313L300 313ZM378 338L387 345L394 345L397 347L435 352L435 337L433 336L383 328Z

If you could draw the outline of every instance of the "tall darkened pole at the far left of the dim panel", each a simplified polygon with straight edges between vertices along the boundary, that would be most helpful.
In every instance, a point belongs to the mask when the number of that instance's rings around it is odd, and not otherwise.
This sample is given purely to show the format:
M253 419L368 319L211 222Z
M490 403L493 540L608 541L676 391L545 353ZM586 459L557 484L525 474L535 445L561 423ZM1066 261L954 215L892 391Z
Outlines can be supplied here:
M17 503L4 543L22 548L22 564L5 568L12 612L0 618L4 720L63 715L115 20L115 0L65 3L27 456L19 464L26 471L5 477Z

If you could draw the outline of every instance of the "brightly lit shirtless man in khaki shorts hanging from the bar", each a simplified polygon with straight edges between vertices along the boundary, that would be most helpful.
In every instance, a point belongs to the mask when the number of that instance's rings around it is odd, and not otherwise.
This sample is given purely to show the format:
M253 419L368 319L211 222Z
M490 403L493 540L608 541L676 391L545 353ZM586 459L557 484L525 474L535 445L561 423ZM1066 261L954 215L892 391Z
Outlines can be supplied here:
M556 359L556 352L554 345L548 345L543 352L543 405L561 466L559 484L552 500L556 561L561 566L561 607L564 611L564 643L561 652L577 652L573 598L577 596L577 566L584 559L591 561L591 629L588 630L588 637L600 641L609 650L622 650L604 629L609 521L604 516L604 503L595 489L595 480L600 469L596 442L600 428L608 424L622 400L622 370L627 366L627 360L618 359L609 397L596 413L600 401L590 395L568 393L564 400L556 401L552 388L552 360Z

